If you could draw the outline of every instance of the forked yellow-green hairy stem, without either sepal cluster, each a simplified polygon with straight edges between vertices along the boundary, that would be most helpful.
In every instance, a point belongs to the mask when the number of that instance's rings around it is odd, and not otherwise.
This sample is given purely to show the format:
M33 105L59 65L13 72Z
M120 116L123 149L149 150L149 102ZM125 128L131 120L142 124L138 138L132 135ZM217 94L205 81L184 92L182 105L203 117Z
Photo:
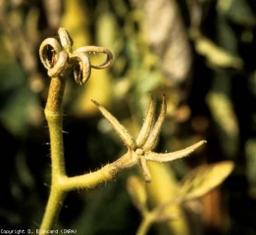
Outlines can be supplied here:
M118 172L130 165L130 156L126 154L113 164L106 164L94 172L74 177L67 176L64 160L62 110L65 84L65 77L58 76L51 79L44 110L50 133L52 177L50 196L39 234L45 234L45 230L50 230L54 227L69 191L80 188L93 188L102 182L113 179Z

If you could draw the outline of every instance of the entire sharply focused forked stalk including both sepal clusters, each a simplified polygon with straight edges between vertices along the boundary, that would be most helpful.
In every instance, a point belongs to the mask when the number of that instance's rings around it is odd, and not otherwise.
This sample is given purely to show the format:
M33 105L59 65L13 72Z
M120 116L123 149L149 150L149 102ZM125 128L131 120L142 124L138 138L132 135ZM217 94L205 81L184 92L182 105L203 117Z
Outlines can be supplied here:
M93 188L102 182L115 178L125 168L136 164L140 164L145 181L150 182L151 175L147 167L147 161L170 162L188 156L205 143L205 141L200 141L175 153L158 154L152 152L166 115L167 106L165 95L163 96L159 118L155 124L153 123L155 102L151 95L147 116L136 139L133 138L128 132L128 129L117 118L96 101L92 100L125 142L128 147L128 153L114 163L106 164L98 170L83 175L68 177L64 160L62 105L66 79L73 71L77 84L84 84L89 79L91 69L101 70L107 68L111 64L113 56L109 50L96 46L80 47L73 51L73 40L69 32L61 27L58 33L59 38L45 39L39 49L41 62L51 77L44 113L49 126L52 161L51 190L41 223L40 234L45 234L45 230L50 230L54 227L69 191ZM105 54L107 56L106 61L99 66L91 65L88 57L88 53L90 52Z

